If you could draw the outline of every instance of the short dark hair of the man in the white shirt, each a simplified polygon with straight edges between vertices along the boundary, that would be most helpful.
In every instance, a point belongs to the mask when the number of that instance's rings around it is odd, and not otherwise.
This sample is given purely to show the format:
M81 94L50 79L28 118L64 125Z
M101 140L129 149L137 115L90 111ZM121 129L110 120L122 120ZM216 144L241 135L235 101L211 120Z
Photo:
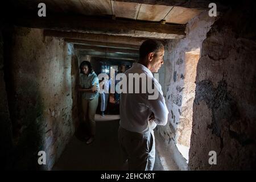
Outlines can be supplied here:
M159 40L148 39L145 40L139 48L139 59L144 59L150 52L158 52L164 48L163 44Z

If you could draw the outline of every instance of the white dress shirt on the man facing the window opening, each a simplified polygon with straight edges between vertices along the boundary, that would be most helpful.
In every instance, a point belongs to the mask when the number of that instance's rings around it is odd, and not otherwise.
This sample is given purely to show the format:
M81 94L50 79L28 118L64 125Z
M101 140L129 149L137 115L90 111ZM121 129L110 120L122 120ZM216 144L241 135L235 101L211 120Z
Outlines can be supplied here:
M120 126L128 131L146 133L153 130L156 125L166 125L168 109L163 97L162 87L154 78L151 71L142 64L134 63L133 67L125 72L127 77L127 90L129 90L129 73L144 73L154 80L158 93L156 100L148 100L147 93L121 93L120 97ZM140 86L142 86L140 81ZM128 91L127 91L128 92ZM148 121L150 114L154 113L154 121Z

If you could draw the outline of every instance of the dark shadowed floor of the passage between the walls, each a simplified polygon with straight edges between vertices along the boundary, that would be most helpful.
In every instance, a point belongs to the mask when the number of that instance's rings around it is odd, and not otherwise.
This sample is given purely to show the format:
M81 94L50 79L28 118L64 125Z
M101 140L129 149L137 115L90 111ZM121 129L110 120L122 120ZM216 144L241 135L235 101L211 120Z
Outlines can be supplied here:
M52 170L122 170L118 146L119 115L96 114L96 139L91 144L75 134ZM156 152L157 153L157 152ZM162 171L158 154L154 170Z

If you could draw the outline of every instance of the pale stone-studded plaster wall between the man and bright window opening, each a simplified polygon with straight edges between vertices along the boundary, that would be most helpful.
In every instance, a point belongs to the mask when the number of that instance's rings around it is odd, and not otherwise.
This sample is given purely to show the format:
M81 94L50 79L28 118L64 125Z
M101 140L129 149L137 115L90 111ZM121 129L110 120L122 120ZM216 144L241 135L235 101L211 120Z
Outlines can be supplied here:
M186 38L172 40L167 43L164 55L166 59L163 65L164 72L160 72L159 77L164 74L164 97L170 113L168 126L159 127L159 132L169 143L171 140L177 142L179 130L184 130L185 126L183 124L187 123L186 117L189 114L192 115L192 113L186 111L188 102L184 103L184 90L186 89L184 87L185 53L197 51L201 48L201 44L213 22L214 18L209 17L208 12L203 12L187 24ZM192 65L192 67L194 66ZM192 97L186 98L186 100L193 103ZM183 144L188 145L188 142L186 141Z

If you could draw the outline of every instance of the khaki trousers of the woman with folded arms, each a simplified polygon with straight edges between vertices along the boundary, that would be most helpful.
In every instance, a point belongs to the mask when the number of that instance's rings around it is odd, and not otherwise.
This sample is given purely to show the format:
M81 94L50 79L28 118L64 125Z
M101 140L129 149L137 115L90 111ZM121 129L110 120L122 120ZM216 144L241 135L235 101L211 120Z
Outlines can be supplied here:
M98 107L98 97L90 100L82 98L82 119L89 126L90 134L96 133L95 114Z

